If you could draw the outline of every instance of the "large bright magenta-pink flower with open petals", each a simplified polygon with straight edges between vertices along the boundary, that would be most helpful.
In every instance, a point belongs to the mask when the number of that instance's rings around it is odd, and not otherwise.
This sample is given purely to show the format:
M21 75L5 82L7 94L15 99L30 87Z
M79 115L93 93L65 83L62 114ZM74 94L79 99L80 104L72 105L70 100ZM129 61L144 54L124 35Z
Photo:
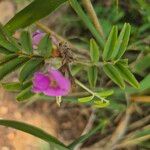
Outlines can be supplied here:
M47 96L64 96L71 89L70 80L58 70L50 69L48 74L36 72L33 77L34 93L44 93Z

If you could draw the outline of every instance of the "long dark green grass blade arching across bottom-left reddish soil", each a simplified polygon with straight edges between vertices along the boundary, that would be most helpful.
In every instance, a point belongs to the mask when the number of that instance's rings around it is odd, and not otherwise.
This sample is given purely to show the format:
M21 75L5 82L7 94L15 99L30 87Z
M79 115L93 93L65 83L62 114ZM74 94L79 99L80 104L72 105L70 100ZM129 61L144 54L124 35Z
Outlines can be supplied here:
M27 123L23 123L23 122L19 122L19 121L13 121L13 120L0 119L0 125L23 131L25 133L31 134L35 137L38 137L38 138L40 138L40 139L42 139L48 143L49 142L54 143L54 144L60 146L60 148L62 148L62 150L69 150L63 143L58 141L52 135L48 134L47 132L43 131L40 128L29 125Z

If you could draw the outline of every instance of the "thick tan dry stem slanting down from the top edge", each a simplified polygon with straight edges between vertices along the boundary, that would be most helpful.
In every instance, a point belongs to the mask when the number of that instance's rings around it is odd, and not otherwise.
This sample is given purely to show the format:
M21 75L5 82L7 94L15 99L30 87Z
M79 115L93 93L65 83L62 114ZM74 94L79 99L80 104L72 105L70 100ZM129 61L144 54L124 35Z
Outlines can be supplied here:
M95 10L93 8L93 5L91 3L91 0L82 0L82 3L85 7L85 9L87 10L88 15L90 16L95 28L97 29L97 31L99 32L99 34L105 38L104 36L104 32L103 32L103 28L101 26L101 23L95 13Z

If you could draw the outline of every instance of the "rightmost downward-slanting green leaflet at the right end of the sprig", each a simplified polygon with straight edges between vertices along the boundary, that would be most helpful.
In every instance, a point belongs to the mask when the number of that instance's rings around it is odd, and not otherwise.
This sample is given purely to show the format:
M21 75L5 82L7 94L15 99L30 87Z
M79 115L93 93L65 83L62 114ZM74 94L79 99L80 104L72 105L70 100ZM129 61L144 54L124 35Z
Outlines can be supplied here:
M131 84L135 88L139 88L139 83L134 77L134 75L131 73L131 71L128 69L128 67L124 66L123 64L117 62L115 64L115 67L121 74L121 76L124 78L125 81L127 81L129 84Z

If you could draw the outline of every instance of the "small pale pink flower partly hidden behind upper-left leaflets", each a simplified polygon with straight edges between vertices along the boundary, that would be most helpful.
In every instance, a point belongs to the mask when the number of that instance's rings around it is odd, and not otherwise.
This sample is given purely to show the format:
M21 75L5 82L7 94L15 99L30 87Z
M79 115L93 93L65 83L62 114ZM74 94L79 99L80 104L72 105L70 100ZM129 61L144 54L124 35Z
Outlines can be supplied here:
M41 39L44 37L45 33L41 32L40 30L37 30L32 35L32 43L33 46L37 46Z

